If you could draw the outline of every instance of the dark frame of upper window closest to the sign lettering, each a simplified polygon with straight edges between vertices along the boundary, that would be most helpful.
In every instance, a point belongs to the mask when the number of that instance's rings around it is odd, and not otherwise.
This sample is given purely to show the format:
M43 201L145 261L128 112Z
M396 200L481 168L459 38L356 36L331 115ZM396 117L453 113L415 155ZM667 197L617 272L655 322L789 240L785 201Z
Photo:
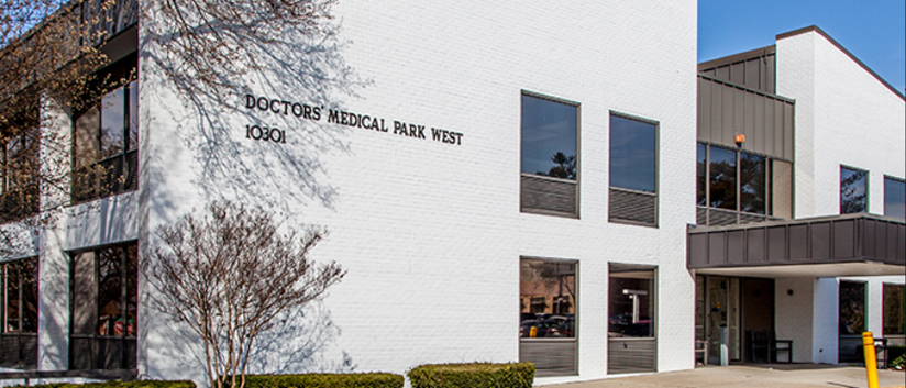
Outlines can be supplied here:
M582 138L582 103L579 103L577 101L573 101L573 100L568 100L568 99L564 99L564 98L559 98L559 97L553 97L553 96L550 96L550 95L539 93L539 92L534 92L534 91L529 91L529 90L524 90L524 89L520 90L519 96L520 96L520 119L519 119L519 121L520 121L520 124L519 124L519 138L520 138L520 143L519 143L520 144L520 146L519 146L519 173L520 174L519 175L520 175L520 182L521 182L520 185L522 186L520 188L520 212L531 213L531 214L544 214L544 215L556 215L556 217L579 219L579 214L581 214L581 207L579 207L581 190L579 190L579 188L582 187L581 186L582 185L582 142L581 142L581 138ZM574 159L574 164L575 164L575 166L574 166L574 168L575 168L575 178L574 179L559 178L559 177L552 177L552 176L548 176L548 175L539 175L539 174L534 174L534 173L523 173L522 171L522 160L523 160L523 157L526 156L524 152L523 152L523 145L522 145L522 137L523 137L522 131L523 131L523 124L524 123L522 122L522 115L523 115L522 109L523 109L523 107L522 107L521 99L523 97L530 97L530 98L539 99L539 100L542 100L542 101L549 101L549 102L553 102L553 103L565 104L567 107L571 107L571 108L575 109L575 113L576 113L576 118L575 118L575 121L576 121L576 123L575 123L575 125L576 125L576 128L575 128L576 155L575 155L575 159ZM567 212L567 211L560 211L560 210L554 210L554 209L546 209L544 207L533 207L533 206L527 204L527 201L526 201L526 193L527 193L526 181L527 181L527 179L542 182L542 185L572 187L572 189L575 191L575 198L574 198L575 211Z

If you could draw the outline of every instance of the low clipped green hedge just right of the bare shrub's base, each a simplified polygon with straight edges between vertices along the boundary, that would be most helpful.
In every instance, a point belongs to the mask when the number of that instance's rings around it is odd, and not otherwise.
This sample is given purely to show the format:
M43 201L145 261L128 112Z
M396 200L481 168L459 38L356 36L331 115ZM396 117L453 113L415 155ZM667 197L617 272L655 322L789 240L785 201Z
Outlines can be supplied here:
M246 375L245 388L402 388L401 375L306 374Z

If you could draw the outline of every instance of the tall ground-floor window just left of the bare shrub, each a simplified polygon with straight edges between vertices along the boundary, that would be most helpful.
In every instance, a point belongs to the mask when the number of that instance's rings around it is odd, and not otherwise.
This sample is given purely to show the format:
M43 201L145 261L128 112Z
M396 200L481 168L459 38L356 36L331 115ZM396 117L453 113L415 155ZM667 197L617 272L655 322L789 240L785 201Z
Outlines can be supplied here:
M69 369L134 369L136 243L71 255Z

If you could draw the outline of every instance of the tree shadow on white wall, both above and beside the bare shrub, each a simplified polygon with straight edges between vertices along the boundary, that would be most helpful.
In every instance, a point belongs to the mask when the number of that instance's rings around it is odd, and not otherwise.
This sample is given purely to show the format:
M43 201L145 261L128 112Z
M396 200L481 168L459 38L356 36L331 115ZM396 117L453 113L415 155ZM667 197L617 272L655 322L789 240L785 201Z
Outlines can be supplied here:
M317 34L291 30L275 41L241 47L245 55L259 58L264 68L219 79L228 87L218 89L194 80L173 55L161 49L178 36L159 33L167 30L153 19L143 23L140 103L141 111L150 114L143 117L146 120L141 129L142 136L151 140L142 145L140 156L141 165L151 168L140 171L140 187L144 188L140 203L146 207L140 211L142 218L154 214L155 223L175 222L187 210L185 201L201 208L213 200L230 199L269 206L284 214L287 225L298 228L307 221L302 217L306 208L335 209L339 191L321 160L350 153L351 129L327 124L328 110L344 98L357 97L355 90L369 84L345 65L342 51L346 43L339 37L340 22L327 22ZM317 107L320 119L250 108L250 95ZM280 129L281 138L251 138L246 131L253 125ZM175 136L162 138L162 133ZM191 166L180 165L186 157L191 158ZM187 184L192 187L185 187ZM147 219L139 224L140 235L151 236L140 241L146 253L156 240L155 224ZM141 308L150 311L147 298L143 300ZM145 314L143 324L155 328L153 334L139 334L140 343L145 344L140 353L155 359L145 365L148 377L206 383L205 353L195 332L159 314ZM276 328L258 337L250 355L250 373L351 372L355 368L352 357L329 350L340 333L320 301L289 311Z

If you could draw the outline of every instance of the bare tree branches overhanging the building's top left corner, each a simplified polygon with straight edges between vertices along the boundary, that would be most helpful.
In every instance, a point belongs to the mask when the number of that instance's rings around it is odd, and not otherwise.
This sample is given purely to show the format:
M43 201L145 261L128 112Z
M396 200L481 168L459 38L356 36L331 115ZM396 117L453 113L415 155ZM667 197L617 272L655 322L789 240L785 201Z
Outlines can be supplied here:
M109 191L74 182L111 168L73 165L79 159L70 131L58 131L67 118L45 113L56 106L73 114L129 80L95 76L109 65L101 48L111 36L143 23L163 73L186 102L201 104L200 96L239 93L243 76L263 68L262 47L299 34L330 36L324 25L335 2L148 0L140 8L137 0L0 0L0 257L33 251L42 226L74 198L92 197L77 191ZM331 79L317 71L303 77Z

